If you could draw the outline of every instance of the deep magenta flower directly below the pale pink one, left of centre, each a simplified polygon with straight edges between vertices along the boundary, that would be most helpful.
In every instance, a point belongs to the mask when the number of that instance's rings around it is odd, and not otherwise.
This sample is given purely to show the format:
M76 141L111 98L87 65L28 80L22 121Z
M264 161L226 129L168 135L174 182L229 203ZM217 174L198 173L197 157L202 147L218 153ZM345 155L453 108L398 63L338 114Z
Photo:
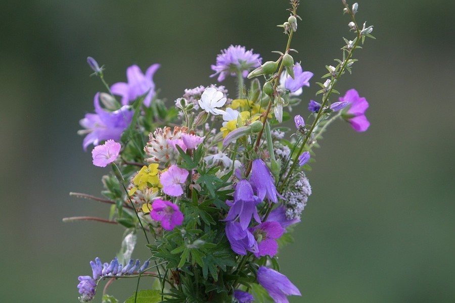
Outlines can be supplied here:
M180 225L184 219L178 206L171 201L163 201L161 199L153 201L150 217L155 221L161 222L161 226L165 230L174 229L174 227Z

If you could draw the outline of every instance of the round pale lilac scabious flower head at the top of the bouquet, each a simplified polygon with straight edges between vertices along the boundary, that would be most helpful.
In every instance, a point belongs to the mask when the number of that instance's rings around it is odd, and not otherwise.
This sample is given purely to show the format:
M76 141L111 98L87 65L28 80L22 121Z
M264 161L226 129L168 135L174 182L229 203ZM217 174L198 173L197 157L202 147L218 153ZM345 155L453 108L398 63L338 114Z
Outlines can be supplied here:
M226 76L236 76L240 72L245 78L249 70L261 65L262 58L259 56L258 54L253 54L253 49L246 51L245 46L231 45L227 49L223 49L221 54L216 56L216 65L211 66L215 73L210 77L219 74L218 82L221 82Z

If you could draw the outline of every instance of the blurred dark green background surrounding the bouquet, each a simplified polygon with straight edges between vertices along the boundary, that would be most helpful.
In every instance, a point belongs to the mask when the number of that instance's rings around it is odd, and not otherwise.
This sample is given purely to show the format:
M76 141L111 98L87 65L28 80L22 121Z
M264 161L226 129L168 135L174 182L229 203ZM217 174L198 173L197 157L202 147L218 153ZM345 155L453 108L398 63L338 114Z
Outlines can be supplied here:
M317 150L307 174L313 194L295 243L280 254L302 292L290 301L453 302L455 2L359 2L358 21L374 25L377 40L357 52L337 89L367 97L371 127L355 133L338 122ZM76 134L103 90L86 57L107 67L110 83L125 81L132 64L160 63L154 79L170 103L185 88L216 83L210 64L230 44L274 59L270 51L286 44L275 26L287 8L286 0L2 1L1 301L77 302L77 276L119 247L120 227L61 220L108 213L68 195L99 195L107 172ZM315 74L304 104L350 36L341 10L337 0L301 3L294 58ZM232 79L222 84L234 89ZM123 300L134 286L115 282L114 294Z

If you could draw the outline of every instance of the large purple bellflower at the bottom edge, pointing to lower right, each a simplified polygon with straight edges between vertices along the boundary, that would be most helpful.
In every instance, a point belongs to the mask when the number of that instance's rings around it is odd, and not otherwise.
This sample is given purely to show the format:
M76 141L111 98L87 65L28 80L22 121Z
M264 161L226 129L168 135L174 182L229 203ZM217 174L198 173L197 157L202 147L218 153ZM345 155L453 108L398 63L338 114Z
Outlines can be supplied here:
M276 303L289 303L287 295L301 295L298 288L285 275L271 268L259 267L257 281Z

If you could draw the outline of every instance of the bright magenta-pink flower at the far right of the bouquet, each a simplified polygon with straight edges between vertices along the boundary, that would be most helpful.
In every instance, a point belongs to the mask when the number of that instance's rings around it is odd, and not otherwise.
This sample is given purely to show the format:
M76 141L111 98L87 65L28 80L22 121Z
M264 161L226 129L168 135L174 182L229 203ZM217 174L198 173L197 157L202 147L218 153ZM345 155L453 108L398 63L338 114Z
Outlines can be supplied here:
M365 97L360 97L355 89L349 89L344 97L339 97L340 102L349 102L349 109L346 111L345 120L349 122L355 131L366 131L370 127L370 122L365 116L369 104Z

